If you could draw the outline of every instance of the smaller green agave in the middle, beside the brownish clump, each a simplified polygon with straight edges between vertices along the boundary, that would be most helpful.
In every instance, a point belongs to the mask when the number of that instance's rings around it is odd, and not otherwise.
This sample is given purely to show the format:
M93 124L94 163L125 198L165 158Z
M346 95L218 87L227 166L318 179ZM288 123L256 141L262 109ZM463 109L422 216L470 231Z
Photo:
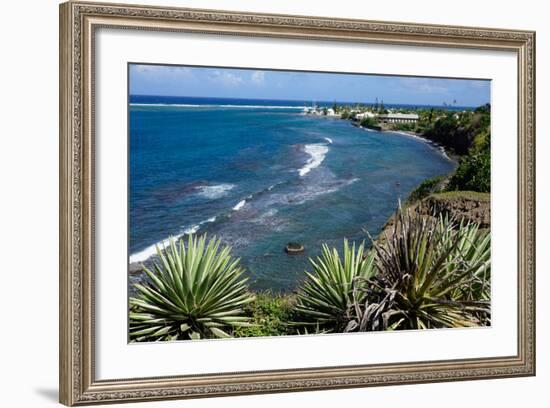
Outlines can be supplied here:
M367 280L375 272L374 252L366 251L364 243L356 249L344 240L343 260L335 248L324 244L321 256L310 263L314 273L306 272L295 306L303 321L296 324L314 326L319 332L342 331L351 317L354 282Z

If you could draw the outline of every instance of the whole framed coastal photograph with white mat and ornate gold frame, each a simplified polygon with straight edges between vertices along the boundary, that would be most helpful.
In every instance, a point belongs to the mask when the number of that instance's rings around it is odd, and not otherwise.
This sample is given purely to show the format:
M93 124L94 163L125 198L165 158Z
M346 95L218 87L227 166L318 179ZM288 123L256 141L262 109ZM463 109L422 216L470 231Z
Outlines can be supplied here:
M534 50L62 4L61 402L534 375Z

